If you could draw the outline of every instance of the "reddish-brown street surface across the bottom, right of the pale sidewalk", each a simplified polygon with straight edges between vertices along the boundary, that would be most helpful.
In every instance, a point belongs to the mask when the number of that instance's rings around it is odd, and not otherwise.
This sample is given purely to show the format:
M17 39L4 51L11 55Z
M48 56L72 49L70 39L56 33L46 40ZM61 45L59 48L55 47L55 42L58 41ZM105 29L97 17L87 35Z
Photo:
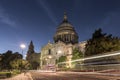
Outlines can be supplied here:
M119 80L120 76L90 72L31 72L33 80Z

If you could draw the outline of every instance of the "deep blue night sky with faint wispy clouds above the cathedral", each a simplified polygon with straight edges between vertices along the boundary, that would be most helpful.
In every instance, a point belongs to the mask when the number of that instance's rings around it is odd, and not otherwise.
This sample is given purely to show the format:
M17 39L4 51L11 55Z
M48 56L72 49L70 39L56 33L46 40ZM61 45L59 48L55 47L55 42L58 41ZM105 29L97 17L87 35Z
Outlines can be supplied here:
M20 52L20 44L33 40L35 51L50 40L63 20L64 11L79 41L95 29L120 37L120 0L0 0L0 53Z

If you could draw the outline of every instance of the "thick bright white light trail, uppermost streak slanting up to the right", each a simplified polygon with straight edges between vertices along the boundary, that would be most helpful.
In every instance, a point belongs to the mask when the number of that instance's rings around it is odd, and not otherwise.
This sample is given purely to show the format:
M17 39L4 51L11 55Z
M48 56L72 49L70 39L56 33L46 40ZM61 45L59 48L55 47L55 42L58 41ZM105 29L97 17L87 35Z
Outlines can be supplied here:
M60 62L58 64L64 64L64 63L76 62L76 61L85 61L85 60L89 60L89 59L97 59L97 58L110 57L110 56L116 56L116 55L120 55L120 51L116 52L116 53L112 53L112 54L104 54L104 55L92 56L92 57L88 57L88 58L76 59L76 60L72 60L72 61Z

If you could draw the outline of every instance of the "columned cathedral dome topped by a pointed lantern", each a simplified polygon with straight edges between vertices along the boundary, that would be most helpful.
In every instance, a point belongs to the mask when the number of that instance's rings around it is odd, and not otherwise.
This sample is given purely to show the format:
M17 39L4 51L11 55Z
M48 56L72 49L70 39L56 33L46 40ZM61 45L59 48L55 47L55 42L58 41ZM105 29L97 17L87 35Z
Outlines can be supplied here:
M78 43L78 35L70 22L67 20L67 15L64 13L62 23L58 26L56 34L54 35L54 42L62 41L68 43Z

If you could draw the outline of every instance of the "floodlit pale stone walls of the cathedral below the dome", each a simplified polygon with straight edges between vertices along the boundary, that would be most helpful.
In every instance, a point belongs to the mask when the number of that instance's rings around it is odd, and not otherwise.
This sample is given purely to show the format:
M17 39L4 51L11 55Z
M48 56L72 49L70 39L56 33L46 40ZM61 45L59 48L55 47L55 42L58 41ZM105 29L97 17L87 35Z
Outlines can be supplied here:
M56 65L56 59L59 59L60 56L67 56L67 61L71 61L73 49L79 47L80 50L84 51L86 42L82 42L76 45L73 44L65 44L61 41L57 43L46 44L41 49L41 66L45 65ZM49 54L50 53L50 54ZM49 56L51 58L49 59ZM71 63L68 63L69 67Z

